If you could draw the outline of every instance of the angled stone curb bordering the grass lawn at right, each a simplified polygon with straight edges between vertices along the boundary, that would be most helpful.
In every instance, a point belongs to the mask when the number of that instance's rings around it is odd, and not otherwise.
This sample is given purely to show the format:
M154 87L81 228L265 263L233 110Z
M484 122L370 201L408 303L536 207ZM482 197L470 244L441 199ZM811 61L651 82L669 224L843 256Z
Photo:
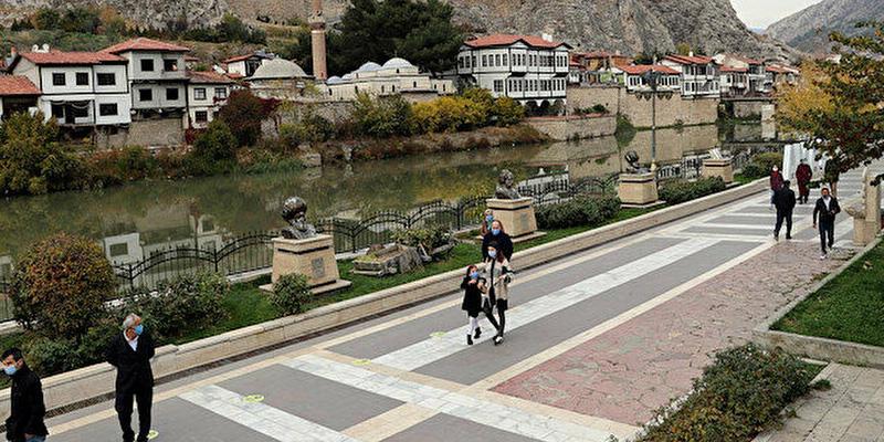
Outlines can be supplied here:
M774 324L782 319L782 317L789 314L789 312L791 312L798 304L807 299L810 295L817 293L830 281L838 277L838 275L843 273L855 262L860 261L869 251L877 246L881 242L882 236L876 238L875 241L872 241L872 243L859 251L853 257L848 260L848 262L838 267L834 272L813 284L804 295L799 296L785 307L778 309L772 316L753 329L751 340L760 346L780 347L788 352L812 359L821 359L853 366L884 368L884 347L875 347L865 344L849 343L844 340L821 338L815 336L804 336L794 333L770 329Z

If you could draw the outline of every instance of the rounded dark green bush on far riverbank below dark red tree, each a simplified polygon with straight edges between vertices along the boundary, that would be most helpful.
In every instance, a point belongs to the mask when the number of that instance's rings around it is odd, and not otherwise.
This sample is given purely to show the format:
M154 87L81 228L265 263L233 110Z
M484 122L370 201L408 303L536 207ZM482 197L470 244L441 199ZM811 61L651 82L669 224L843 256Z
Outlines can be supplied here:
M185 162L192 175L212 175L232 169L236 161L236 138L221 119L209 123L209 127L193 141L193 148Z

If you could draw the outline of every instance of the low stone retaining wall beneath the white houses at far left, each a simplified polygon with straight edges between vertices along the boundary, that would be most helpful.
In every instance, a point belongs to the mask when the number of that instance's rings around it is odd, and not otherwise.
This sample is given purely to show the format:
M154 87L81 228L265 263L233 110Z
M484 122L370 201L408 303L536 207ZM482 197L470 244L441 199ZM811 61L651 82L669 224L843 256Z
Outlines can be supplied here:
M107 149L123 146L181 146L185 144L185 129L180 117L144 119L131 122L128 129L116 131L98 129L95 146Z

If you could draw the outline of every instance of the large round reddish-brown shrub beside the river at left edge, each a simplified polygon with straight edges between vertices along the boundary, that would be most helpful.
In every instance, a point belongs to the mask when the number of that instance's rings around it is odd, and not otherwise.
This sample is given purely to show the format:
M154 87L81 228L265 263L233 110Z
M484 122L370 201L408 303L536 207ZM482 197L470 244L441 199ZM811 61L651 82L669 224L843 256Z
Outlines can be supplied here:
M116 286L98 244L60 233L19 257L10 296L15 319L27 329L77 337L104 315L104 302L114 296Z

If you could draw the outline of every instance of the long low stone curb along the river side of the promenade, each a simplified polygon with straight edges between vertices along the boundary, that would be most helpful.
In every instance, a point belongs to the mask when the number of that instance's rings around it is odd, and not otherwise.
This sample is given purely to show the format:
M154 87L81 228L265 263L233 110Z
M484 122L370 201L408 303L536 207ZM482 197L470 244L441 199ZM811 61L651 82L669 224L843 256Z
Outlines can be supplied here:
M690 217L761 192L760 179L682 204L660 209L583 233L556 240L514 255L519 269L535 267L572 253L591 249L657 225ZM231 330L182 345L157 348L151 360L157 379L197 370L219 361L338 329L367 318L381 316L460 291L462 270L453 270L423 280L318 307L307 313ZM84 403L113 393L116 371L106 362L50 376L43 379L48 410ZM10 389L0 391L0 414L9 413Z

